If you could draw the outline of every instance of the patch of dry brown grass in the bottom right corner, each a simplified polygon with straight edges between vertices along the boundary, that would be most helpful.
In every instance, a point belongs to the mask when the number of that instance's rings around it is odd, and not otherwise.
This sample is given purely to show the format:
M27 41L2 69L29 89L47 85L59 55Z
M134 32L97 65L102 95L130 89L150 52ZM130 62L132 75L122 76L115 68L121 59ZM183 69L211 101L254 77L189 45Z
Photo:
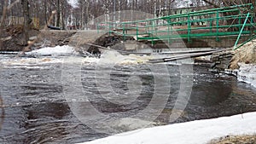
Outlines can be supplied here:
M208 144L256 144L256 135L228 135Z

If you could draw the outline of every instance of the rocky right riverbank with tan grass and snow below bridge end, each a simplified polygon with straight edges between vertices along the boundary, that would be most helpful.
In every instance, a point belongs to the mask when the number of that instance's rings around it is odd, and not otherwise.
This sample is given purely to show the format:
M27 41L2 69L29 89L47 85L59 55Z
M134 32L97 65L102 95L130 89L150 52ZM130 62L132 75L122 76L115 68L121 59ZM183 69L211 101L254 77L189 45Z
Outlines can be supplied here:
M212 72L224 72L236 76L238 81L256 87L256 40L240 49L230 49L211 57Z

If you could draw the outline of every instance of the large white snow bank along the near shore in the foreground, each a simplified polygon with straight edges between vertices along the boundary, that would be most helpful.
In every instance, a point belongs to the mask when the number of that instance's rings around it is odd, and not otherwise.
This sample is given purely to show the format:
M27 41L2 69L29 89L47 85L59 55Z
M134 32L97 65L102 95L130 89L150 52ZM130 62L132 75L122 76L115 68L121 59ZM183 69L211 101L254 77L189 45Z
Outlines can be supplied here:
M256 112L249 112L232 117L135 130L83 144L201 144L225 135L254 134L255 119Z

